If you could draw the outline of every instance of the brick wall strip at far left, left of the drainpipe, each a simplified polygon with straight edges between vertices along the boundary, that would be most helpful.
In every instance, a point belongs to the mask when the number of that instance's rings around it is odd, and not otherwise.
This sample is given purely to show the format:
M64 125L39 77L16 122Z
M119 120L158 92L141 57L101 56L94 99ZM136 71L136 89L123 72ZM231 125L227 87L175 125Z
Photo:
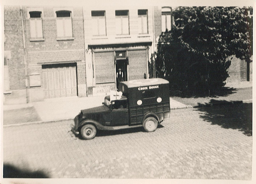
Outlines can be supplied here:
M25 89L25 64L20 7L4 7L4 50L10 51L8 72L10 90Z

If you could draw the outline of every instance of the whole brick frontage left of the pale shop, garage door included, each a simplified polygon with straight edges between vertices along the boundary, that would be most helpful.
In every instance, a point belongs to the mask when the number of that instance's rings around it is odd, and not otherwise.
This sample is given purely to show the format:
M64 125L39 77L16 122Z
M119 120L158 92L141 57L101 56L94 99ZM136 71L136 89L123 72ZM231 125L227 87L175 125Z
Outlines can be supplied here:
M5 6L4 17L5 102L86 96L82 7Z

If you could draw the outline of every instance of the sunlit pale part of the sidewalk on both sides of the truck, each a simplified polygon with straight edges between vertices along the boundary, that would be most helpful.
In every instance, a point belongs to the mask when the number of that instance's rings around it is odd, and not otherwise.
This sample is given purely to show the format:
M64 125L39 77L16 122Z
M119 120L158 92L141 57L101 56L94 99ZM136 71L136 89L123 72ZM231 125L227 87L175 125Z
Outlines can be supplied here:
M4 125L73 119L82 109L102 105L105 96L45 99L29 104L4 105ZM170 108L191 108L170 98ZM28 113L30 111L30 113ZM17 117L17 116L18 117ZM21 117L23 116L23 117ZM39 117L39 118L38 118ZM35 120L32 121L31 118Z

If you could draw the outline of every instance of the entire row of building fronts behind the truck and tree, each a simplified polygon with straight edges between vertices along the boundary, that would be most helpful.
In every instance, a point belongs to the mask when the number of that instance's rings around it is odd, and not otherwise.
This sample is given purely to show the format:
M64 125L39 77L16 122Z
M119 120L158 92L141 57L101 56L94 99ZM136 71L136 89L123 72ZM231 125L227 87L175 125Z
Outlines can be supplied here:
M4 7L4 102L103 95L123 80L155 77L162 31L171 7ZM234 60L230 81L251 80Z

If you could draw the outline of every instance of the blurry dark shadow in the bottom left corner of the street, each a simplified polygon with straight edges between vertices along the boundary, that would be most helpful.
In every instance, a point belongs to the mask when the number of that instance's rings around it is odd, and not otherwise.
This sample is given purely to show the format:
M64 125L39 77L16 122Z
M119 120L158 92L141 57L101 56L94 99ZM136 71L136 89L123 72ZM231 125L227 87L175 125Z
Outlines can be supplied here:
M43 171L30 171L27 168L18 168L12 164L3 164L3 178L50 178Z

